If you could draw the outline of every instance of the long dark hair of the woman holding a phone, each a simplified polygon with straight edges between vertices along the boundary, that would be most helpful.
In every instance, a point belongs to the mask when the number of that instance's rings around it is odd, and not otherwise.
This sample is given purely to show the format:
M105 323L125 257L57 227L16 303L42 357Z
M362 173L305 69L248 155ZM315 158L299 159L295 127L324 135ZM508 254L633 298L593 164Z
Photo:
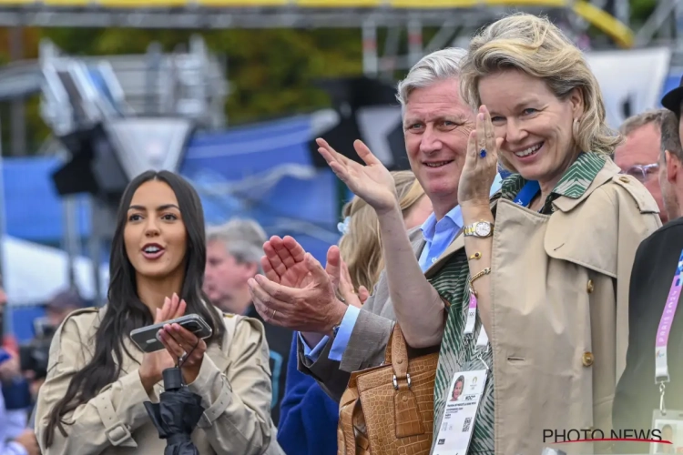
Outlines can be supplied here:
M66 389L65 396L50 412L46 428L47 447L52 444L56 428L66 437L63 424L70 424L64 420L67 413L96 397L101 389L118 379L123 365L123 351L133 359L123 345L124 338L130 336L131 330L154 322L149 309L138 298L135 269L128 260L124 242L124 228L130 201L138 187L149 180L165 182L173 189L188 233L185 279L180 296L187 303L186 314L196 313L207 321L213 329L213 335L207 340L209 343L221 340L225 333L219 311L210 304L207 305L209 298L201 290L207 248L204 210L199 195L184 178L172 172L147 171L140 174L128 184L118 207L117 228L109 260L108 305L95 332L95 354L83 369L76 372Z

